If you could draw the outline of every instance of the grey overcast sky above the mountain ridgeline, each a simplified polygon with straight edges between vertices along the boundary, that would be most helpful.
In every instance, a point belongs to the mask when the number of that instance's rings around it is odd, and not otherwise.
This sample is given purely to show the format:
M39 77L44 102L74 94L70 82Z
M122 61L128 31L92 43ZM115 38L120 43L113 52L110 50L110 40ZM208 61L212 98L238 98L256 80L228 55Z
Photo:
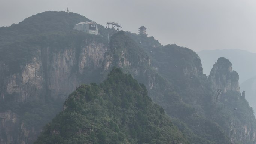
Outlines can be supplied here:
M0 27L67 7L101 25L118 22L132 33L144 25L163 45L256 53L255 0L0 0Z

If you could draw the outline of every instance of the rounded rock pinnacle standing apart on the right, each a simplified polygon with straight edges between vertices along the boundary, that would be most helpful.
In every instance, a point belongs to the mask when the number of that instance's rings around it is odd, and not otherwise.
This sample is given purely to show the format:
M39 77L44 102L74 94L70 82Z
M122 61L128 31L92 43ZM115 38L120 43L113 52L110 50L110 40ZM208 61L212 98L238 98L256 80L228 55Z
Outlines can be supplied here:
M222 92L240 92L238 73L232 70L232 64L228 59L219 58L213 65L208 79L213 89L222 89Z

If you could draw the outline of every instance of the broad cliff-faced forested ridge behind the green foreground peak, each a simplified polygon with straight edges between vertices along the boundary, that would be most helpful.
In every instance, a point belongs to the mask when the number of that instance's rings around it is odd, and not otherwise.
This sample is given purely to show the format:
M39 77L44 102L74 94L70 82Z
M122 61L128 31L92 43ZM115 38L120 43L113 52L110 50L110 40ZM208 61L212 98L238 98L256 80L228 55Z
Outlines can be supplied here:
M87 21L85 17L52 13L63 18L58 20L65 24L63 28L1 45L1 143L33 143L68 94L81 83L102 82L112 67L144 83L149 96L165 109L189 143L255 143L255 118L247 101L219 99L214 104L212 82L202 73L201 60L192 50L175 44L162 46L153 37L123 31L108 43L104 27L99 26L99 36L74 31L70 25L75 22L66 18Z

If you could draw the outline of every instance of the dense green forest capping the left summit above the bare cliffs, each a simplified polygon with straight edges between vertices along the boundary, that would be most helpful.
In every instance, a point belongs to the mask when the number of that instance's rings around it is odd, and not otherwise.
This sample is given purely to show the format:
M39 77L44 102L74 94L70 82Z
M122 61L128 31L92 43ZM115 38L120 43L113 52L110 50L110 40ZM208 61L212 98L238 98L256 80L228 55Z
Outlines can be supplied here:
M83 21L91 20L72 12L43 12L19 24L1 27L0 61L8 67L6 74L20 72L22 65L31 62L46 48L57 52L60 49L79 49L84 41L87 44L107 42L103 37L106 30L101 25L98 25L101 36L74 31L74 25Z

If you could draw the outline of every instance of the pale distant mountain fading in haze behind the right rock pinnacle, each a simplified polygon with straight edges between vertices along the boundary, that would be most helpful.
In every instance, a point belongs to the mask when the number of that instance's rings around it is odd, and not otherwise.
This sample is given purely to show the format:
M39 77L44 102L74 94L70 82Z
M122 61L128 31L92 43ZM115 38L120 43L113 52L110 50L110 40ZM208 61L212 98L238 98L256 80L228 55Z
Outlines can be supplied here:
M255 76L256 76L256 53L251 53L239 49L226 50L202 50L198 52L202 59L202 67L207 75L211 70L211 65L216 59L223 56L232 61L232 68L239 74L240 91L246 92L246 99L253 110L256 110L255 96Z

